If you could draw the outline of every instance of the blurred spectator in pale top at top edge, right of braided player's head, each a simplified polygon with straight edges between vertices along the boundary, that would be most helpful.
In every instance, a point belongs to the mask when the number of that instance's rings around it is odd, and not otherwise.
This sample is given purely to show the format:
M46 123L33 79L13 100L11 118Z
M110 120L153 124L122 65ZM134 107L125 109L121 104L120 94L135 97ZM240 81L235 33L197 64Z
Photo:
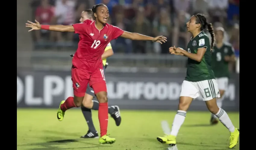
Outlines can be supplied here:
M228 8L228 0L208 0L209 14L212 22L219 21L224 24L226 18L226 9Z

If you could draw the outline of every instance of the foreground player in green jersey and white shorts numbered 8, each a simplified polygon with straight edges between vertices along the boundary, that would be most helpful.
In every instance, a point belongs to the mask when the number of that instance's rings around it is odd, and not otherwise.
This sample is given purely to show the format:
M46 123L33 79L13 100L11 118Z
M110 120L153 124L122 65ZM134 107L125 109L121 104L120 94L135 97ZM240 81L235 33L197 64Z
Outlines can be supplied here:
M174 117L170 135L157 137L157 140L170 146L176 145L176 136L185 120L187 110L192 100L201 95L208 110L228 128L229 148L233 148L238 142L239 129L234 127L227 113L217 106L216 98L220 97L220 92L211 67L211 50L214 46L212 25L201 14L192 16L186 25L188 32L192 33L187 49L175 46L169 48L171 54L188 57L187 75L182 83L178 111ZM205 30L211 34L211 44Z

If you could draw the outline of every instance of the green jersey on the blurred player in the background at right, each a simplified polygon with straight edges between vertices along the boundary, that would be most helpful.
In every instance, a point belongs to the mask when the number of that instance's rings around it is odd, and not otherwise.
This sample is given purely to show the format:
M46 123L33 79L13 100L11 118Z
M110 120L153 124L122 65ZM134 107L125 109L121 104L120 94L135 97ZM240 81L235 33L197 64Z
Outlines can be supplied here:
M216 78L229 77L228 62L224 60L224 57L231 55L234 55L234 49L230 44L223 43L220 48L214 46L211 65Z

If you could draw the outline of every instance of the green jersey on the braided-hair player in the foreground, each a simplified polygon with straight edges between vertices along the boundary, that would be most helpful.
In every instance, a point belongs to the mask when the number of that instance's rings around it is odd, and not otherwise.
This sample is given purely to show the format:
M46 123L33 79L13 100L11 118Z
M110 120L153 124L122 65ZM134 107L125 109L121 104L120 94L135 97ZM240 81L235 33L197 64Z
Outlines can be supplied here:
M200 32L195 38L191 38L187 51L197 53L197 49L206 48L201 62L188 58L187 76L185 80L191 82L214 79L214 72L211 67L211 44L208 35Z

